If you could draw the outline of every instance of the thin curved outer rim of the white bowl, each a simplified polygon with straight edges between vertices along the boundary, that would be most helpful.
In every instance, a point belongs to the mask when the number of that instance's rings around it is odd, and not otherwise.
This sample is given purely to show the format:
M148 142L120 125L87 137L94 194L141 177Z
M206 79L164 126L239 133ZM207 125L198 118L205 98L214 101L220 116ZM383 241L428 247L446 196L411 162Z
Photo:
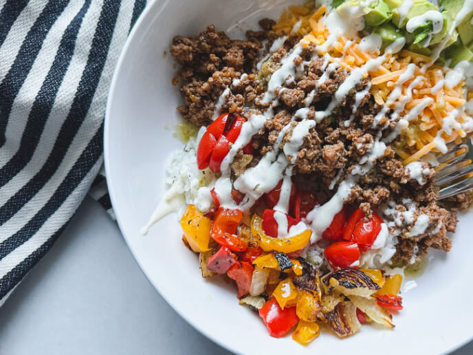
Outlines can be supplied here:
M188 324L190 324L197 332L208 338L208 340L212 341L213 343L216 343L217 345L223 347L223 349L228 350L229 352L233 352L235 354L239 354L239 349L236 349L233 347L231 343L225 343L221 341L219 338L215 338L212 336L212 333L206 329L203 329L203 327L200 327L197 321L192 321L184 312L181 312L179 309L178 305L176 305L172 299L166 297L165 292L162 292L161 288L155 284L152 281L152 278L148 275L146 272L144 266L142 266L142 262L140 261L140 258L137 257L135 254L135 250L133 250L133 247L131 246L131 243L129 242L129 238L126 236L126 233L124 232L125 228L122 225L122 218L120 217L121 213L119 212L119 209L116 209L116 203L115 203L115 191L119 191L119 189L114 189L114 183L113 180L110 178L111 176L111 168L110 168L110 149L109 147L109 139L110 139L110 127L113 125L111 122L111 110L113 106L113 101L114 101L114 96L115 96L115 91L116 91L116 86L118 82L118 77L120 76L120 72L122 71L122 66L124 64L125 57L128 55L129 47L131 43L134 41L134 38L137 34L137 32L141 31L144 26L146 26L146 23L148 21L151 21L151 17L155 16L156 14L159 14L159 6L166 6L166 3L168 3L169 0L148 0L148 3L146 4L146 7L144 8L142 14L140 14L140 17L137 19L135 22L135 25L133 25L133 28L131 29L129 36L127 37L123 47L122 51L120 52L120 56L118 58L118 61L115 65L115 69L113 70L113 76L111 80L111 85L109 87L109 94L107 97L107 107L105 111L105 117L104 117L104 138L103 138L103 147L104 147L104 169L105 169L105 175L107 176L106 182L107 182L107 189L109 191L109 196L111 200L111 206L113 208L113 211L115 213L116 217L116 222L118 224L118 227L120 228L120 232L124 238L124 241L126 242L126 246L128 246L131 255L133 255L133 259L135 259L135 262L137 263L137 266L140 267L140 270L143 272L144 276L148 280L149 283L155 288L155 290L159 293L159 295L170 305L171 308L179 316L181 316L182 319L184 319ZM151 23L151 22L150 22ZM148 23L149 24L149 23ZM463 347L467 343L470 343L470 341L473 340L473 332L470 336L464 338L462 341L452 345L449 349L445 349L443 352L440 352L439 354L450 354L457 349Z

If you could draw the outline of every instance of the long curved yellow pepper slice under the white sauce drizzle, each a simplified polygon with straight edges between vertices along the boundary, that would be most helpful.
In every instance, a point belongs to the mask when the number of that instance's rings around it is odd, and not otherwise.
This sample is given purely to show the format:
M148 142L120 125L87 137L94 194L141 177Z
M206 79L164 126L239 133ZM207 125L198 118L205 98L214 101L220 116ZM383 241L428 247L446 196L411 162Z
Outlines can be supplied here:
M273 238L268 237L261 227L262 219L259 215L254 215L252 218L251 230L252 235L259 237L259 246L264 251L276 250L277 252L295 252L296 250L302 249L309 244L312 231L306 229L303 233L294 235L294 237L287 238Z

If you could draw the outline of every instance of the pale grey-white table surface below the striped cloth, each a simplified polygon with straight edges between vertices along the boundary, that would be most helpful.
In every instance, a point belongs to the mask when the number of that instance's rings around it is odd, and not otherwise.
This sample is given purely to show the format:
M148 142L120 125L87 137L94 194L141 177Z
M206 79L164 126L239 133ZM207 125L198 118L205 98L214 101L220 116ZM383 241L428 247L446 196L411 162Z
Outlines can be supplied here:
M138 268L118 227L87 198L0 308L0 354L230 353L167 305ZM473 354L473 343L454 354Z

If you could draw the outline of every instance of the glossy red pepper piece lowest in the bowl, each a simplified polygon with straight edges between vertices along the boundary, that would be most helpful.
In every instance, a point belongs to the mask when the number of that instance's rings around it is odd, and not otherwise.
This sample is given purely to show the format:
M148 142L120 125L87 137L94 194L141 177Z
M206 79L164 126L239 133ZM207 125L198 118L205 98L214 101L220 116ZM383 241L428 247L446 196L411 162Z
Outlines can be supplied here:
M281 310L278 301L272 297L263 307L259 309L259 316L265 322L270 336L281 338L299 321L296 314L296 307L285 307Z

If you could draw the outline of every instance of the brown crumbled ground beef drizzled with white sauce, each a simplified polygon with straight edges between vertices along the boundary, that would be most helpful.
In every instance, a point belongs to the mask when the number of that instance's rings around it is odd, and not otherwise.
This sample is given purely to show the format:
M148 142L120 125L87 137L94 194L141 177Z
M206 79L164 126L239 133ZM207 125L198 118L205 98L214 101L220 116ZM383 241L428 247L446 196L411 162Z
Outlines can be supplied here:
M274 21L260 21L261 31L248 31L248 41L235 41L223 32L215 30L213 25L195 37L176 36L171 46L171 54L175 56L181 71L179 78L183 81L181 93L184 105L177 109L184 119L195 125L208 125L214 115L215 105L223 91L230 92L221 105L222 112L230 112L244 118L253 114L261 114L270 107L263 101L265 87L271 74L281 66L281 60L287 52L300 40L291 35L285 40L283 47L272 54L267 54L273 41L280 37L272 30ZM263 47L263 43L266 43ZM261 69L256 67L256 63ZM279 133L289 124L292 127L285 133L282 144L291 138L293 127L301 119L296 114L298 109L308 109L307 118L315 119L315 112L325 110L338 87L347 79L347 72L336 69L323 82L318 80L324 74L324 58L317 56L314 45L307 45L294 59L294 64L305 63L304 70L298 78L287 80L286 87L276 90L279 104L273 107L274 116L265 122L263 128L253 137L254 157L245 161L245 166L256 165L267 151L272 151ZM243 76L243 73L248 75ZM382 106L377 105L373 96L366 94L358 100L354 109L355 94L369 84L369 78L361 80L354 89L345 96L328 116L309 130L300 147L292 173L299 184L305 189L313 189L318 193L319 203L327 201L337 184L344 176L351 173L360 160L373 147L376 137L386 137L394 129L398 118L391 118L384 130L382 125L373 128L375 116ZM388 122L390 112L381 119ZM240 152L239 158L243 157ZM287 157L292 159L293 157ZM395 258L402 263L410 263L412 258L420 259L426 255L428 248L450 250L451 241L448 232L456 227L457 209L465 209L473 202L473 194L467 193L442 202L436 202L438 188L434 185L434 171L426 176L426 182L419 185L412 180L404 165L397 159L391 147L387 147L384 156L378 158L373 169L360 177L347 201L349 208L360 206L366 217L371 217L374 210L382 212L382 206L388 202L396 208L404 208L406 200L415 204L415 219L403 225L397 233L399 244ZM248 164L248 165L247 165ZM427 167L424 166L424 167ZM241 166L234 166L234 176L241 174ZM327 186L333 186L329 189ZM416 218L425 214L429 217L428 228L424 233L412 237ZM386 216L384 216L386 217ZM300 277L303 283L304 277Z

